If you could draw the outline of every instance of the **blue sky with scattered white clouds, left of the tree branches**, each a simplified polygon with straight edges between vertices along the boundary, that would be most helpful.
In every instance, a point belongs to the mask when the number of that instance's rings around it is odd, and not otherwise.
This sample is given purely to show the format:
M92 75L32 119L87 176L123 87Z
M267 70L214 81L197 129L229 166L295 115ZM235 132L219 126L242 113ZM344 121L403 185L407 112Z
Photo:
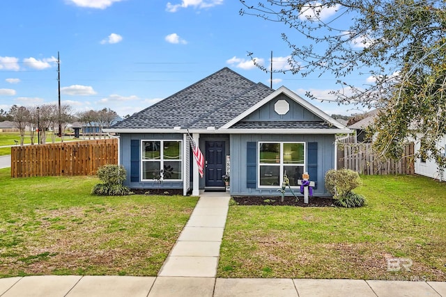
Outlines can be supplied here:
M132 115L223 67L270 86L270 74L247 53L269 69L272 51L273 67L286 69L290 49L281 34L296 44L308 40L284 24L242 16L241 8L238 0L0 1L0 109L56 104L58 52L61 103L75 113ZM272 81L329 115L362 112L330 102L339 88L331 74L277 73Z

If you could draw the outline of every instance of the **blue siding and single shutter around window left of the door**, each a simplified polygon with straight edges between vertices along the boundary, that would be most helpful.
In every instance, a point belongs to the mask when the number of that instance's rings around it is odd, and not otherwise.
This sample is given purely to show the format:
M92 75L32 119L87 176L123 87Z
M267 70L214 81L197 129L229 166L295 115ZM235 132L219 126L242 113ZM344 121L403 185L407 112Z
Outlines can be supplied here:
M120 159L127 170L124 185L130 188L183 188L183 182L160 182L153 180L141 182L141 141L143 140L169 140L183 141L183 134L121 134ZM183 161L185 157L183 156Z

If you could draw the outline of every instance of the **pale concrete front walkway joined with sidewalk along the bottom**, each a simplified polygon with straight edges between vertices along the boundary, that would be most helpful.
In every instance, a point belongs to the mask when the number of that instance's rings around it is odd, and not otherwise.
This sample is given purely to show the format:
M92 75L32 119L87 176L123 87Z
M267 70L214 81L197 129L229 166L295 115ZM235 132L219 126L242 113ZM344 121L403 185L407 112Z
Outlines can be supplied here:
M446 282L215 278L226 193L203 193L157 277L47 275L0 279L0 296L436 296Z

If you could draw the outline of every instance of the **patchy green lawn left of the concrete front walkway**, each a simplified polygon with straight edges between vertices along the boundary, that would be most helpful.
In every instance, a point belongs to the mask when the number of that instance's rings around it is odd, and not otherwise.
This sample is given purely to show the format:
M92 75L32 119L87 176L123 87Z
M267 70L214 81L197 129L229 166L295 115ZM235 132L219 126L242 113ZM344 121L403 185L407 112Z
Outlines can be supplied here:
M0 169L0 277L156 275L197 198L90 195L95 177Z

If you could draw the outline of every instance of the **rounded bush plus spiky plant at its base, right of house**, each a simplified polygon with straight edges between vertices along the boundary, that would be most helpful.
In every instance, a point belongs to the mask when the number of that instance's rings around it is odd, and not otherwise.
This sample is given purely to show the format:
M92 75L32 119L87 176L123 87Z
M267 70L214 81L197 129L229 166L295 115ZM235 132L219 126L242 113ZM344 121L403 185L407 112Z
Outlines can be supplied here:
M362 184L360 175L350 169L328 170L325 174L325 188L336 200L339 207L362 207L365 198L353 193L353 188Z

